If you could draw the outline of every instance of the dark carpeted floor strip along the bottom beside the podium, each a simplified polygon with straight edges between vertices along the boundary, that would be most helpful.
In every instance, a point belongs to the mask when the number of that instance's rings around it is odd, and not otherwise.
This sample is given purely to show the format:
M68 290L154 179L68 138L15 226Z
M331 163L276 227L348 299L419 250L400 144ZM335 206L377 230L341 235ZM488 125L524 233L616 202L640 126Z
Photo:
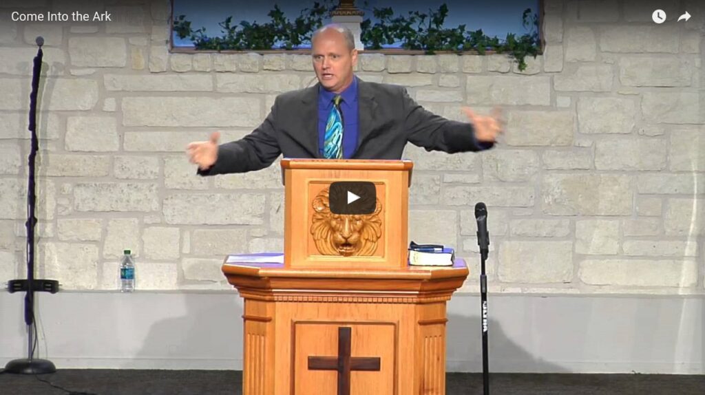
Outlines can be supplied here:
M52 375L0 374L0 394L240 395L242 380L242 372L233 370L65 369ZM448 373L446 386L447 395L482 394L482 375ZM493 374L490 392L495 395L703 395L705 376Z

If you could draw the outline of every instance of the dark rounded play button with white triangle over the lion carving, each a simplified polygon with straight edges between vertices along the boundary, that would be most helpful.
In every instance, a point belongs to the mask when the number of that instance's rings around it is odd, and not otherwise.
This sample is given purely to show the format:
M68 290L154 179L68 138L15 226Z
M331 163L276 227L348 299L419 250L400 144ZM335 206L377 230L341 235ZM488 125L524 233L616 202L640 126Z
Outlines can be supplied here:
M372 214L377 203L376 189L368 181L333 182L329 202L333 214Z

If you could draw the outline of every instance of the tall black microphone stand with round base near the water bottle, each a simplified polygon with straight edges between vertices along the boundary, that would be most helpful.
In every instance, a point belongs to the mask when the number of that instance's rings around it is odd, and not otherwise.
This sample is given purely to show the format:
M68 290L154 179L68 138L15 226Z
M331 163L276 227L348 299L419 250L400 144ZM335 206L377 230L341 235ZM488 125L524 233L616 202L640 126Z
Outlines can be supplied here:
M26 375L40 375L56 372L56 366L51 360L34 358L37 346L37 322L35 322L35 291L47 291L56 294L59 291L59 282L56 280L35 280L35 206L37 194L35 192L35 159L39 151L37 139L37 93L39 92L39 77L42 73L42 45L44 39L37 37L37 56L35 56L32 69L32 93L30 94L30 127L32 132L32 148L29 156L29 180L27 182L27 280L10 280L8 291L12 294L25 291L25 324L27 325L27 358L15 359L5 365L6 373L22 373Z

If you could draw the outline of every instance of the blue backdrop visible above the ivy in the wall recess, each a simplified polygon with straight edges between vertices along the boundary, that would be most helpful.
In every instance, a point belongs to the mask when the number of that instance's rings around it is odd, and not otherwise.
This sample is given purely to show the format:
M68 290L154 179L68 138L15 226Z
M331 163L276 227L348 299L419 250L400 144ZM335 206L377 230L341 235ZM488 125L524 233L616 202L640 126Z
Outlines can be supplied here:
M486 35L500 39L506 37L508 32L517 35L527 33L522 26L522 13L526 8L531 8L534 13L539 12L539 0L367 0L367 4L364 4L364 0L355 1L357 8L364 11L365 19L372 18L373 8L391 7L395 15L408 15L409 11L429 13L429 9L435 11L444 3L448 6L445 23L447 27L465 24L466 31L482 29ZM194 30L205 27L207 35L219 36L221 27L218 23L228 15L233 16L233 25L240 23L240 20L266 23L269 21L266 14L275 4L278 4L287 18L293 20L303 8L314 4L314 1L174 0L174 15L186 15ZM174 45L192 44L188 38L179 39L174 35Z

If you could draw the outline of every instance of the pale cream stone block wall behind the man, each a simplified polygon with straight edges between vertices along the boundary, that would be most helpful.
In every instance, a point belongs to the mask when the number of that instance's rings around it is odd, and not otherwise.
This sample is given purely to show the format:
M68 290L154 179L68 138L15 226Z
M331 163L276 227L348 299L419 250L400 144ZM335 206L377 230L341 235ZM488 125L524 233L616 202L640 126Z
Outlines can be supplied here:
M283 249L279 166L197 177L185 146L250 132L277 94L314 83L309 56L170 53L166 0L65 3L0 4L0 281L25 275L27 98L42 35L38 275L116 289L129 248L140 289L228 289L223 255ZM654 8L667 23L651 22ZM677 23L685 9L692 19ZM497 105L508 120L485 153L408 146L411 239L456 246L476 290L473 206L484 201L491 291L705 293L705 8L544 10L544 54L521 73L503 55L360 57L362 79L405 85L447 118ZM12 11L112 22L14 23Z

